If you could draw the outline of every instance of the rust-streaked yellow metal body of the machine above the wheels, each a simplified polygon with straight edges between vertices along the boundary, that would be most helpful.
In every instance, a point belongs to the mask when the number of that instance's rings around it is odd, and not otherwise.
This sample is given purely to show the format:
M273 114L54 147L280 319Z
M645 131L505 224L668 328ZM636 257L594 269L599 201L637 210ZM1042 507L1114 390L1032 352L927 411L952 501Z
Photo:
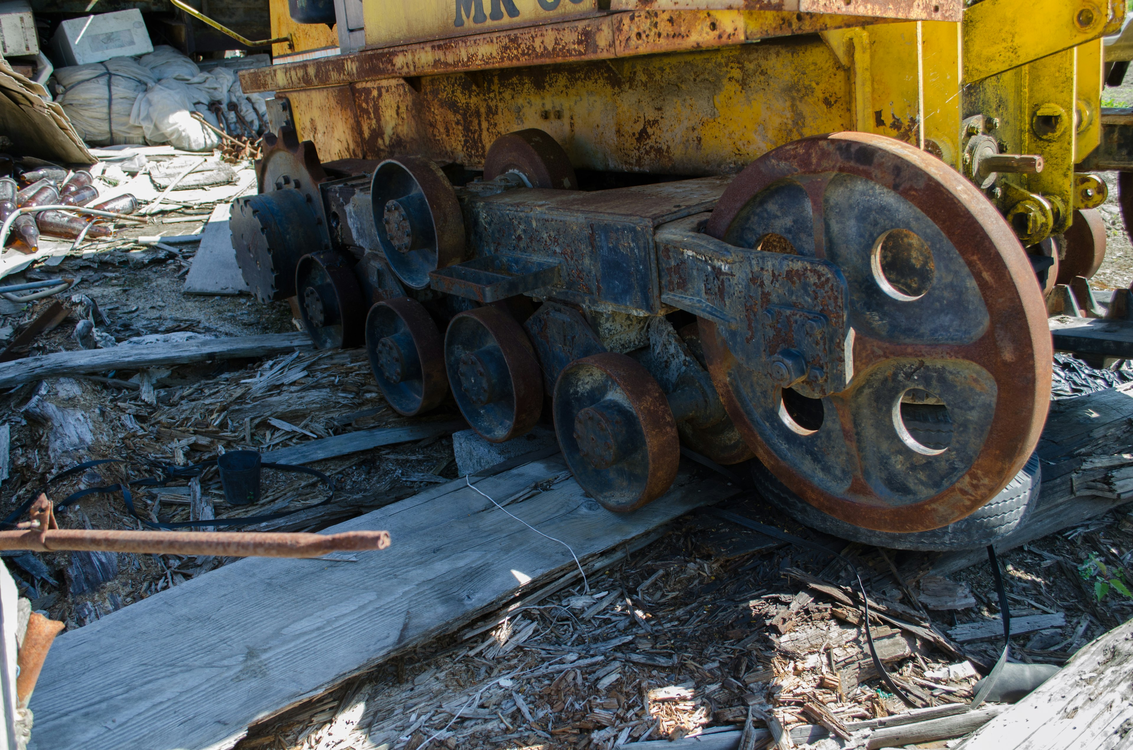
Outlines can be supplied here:
M753 0L617 11L637 2L241 79L287 95L324 160L417 153L477 168L496 137L537 127L576 168L717 174L852 129L965 173L965 146L982 134L1003 153L1043 159L1040 173L1000 174L988 188L1024 242L1064 231L1082 205L1087 178L1074 165L1100 140L1100 37L1121 27L1124 0L982 0L959 23L734 8Z

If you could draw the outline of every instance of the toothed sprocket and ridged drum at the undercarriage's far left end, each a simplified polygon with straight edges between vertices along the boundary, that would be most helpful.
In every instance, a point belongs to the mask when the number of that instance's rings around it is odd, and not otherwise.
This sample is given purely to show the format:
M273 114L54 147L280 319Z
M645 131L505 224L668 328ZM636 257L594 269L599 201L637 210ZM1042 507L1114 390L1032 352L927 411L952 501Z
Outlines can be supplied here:
M257 298L293 297L299 258L330 249L318 193L325 179L312 142L299 143L288 128L264 136L256 162L259 191L235 201L230 214L236 261Z

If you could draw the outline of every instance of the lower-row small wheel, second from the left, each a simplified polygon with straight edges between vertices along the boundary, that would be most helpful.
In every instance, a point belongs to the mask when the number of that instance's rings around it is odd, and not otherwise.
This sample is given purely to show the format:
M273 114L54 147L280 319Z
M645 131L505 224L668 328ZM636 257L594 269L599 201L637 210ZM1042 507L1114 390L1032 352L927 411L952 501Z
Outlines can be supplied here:
M399 297L369 308L366 353L377 386L398 414L424 414L449 391L441 332L415 299Z

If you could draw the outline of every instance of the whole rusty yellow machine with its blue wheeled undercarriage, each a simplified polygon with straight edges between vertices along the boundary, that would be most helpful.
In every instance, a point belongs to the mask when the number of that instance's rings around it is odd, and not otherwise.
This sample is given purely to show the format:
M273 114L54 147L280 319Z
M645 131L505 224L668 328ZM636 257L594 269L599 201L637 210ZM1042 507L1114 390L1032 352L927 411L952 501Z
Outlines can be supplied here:
M614 510L683 450L891 545L1025 515L1124 0L337 10L341 54L241 73L281 128L233 237L395 409L550 415Z

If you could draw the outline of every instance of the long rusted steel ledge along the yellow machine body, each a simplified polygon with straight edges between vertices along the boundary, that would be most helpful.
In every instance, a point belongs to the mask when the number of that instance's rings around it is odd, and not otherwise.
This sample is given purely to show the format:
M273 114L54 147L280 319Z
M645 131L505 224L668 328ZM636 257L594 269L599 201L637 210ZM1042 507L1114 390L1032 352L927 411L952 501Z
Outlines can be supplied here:
M695 51L876 23L886 23L886 19L846 15L844 8L829 15L777 10L642 10L255 68L240 73L240 85L246 92L291 92L382 78ZM333 127L329 121L322 125Z

